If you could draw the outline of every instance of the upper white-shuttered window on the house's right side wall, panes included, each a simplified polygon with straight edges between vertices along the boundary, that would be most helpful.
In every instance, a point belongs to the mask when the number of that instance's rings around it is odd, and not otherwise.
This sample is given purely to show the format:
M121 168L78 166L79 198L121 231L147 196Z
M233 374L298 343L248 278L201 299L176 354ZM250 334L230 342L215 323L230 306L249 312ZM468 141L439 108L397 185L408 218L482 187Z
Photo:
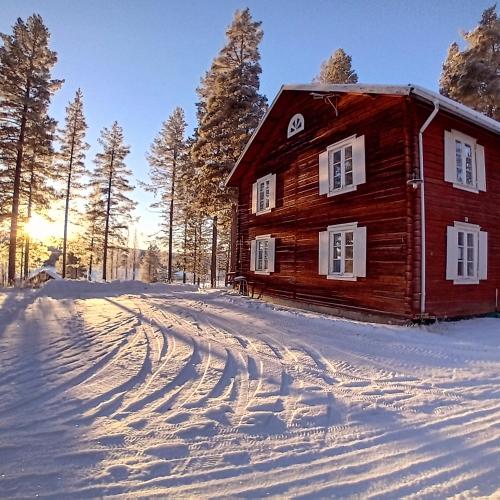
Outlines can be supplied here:
M486 191L484 148L461 132L445 130L445 180L466 191Z

